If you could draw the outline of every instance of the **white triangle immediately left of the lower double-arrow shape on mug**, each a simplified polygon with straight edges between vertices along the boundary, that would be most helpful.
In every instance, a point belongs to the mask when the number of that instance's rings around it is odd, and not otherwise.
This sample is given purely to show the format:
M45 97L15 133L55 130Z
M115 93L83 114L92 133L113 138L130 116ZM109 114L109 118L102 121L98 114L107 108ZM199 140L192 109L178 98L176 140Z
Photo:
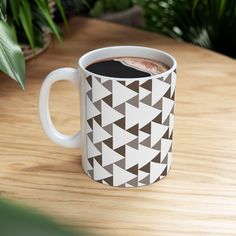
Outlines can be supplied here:
M113 151L106 144L102 143L102 165L110 165L114 162L120 161L124 157Z

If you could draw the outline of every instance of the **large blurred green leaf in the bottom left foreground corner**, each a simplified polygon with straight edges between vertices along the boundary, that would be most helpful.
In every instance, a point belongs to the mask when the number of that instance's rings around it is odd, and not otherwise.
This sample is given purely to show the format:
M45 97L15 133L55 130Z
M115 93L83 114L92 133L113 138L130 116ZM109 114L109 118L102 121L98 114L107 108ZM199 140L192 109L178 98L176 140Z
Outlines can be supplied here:
M88 236L85 231L70 231L32 209L0 200L2 236Z

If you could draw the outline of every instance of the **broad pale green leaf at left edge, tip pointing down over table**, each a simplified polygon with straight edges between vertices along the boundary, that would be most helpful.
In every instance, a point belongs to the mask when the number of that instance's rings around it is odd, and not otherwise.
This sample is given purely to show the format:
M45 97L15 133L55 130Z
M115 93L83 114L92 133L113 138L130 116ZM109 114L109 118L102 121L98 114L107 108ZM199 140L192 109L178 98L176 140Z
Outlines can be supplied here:
M14 26L0 21L0 70L25 85L25 59L16 40Z

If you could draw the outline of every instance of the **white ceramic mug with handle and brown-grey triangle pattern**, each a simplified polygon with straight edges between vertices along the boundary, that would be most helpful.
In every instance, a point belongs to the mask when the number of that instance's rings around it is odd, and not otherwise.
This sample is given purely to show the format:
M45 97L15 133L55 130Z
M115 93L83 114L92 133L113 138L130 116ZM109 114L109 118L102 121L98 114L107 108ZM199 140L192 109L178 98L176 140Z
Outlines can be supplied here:
M91 63L114 57L143 57L170 69L144 78L115 78L86 70ZM81 130L67 136L52 124L51 86L71 81L80 92ZM116 46L90 51L79 68L61 68L43 82L39 113L42 127L55 143L82 149L82 166L93 180L119 187L154 183L167 175L172 160L176 61L160 50Z

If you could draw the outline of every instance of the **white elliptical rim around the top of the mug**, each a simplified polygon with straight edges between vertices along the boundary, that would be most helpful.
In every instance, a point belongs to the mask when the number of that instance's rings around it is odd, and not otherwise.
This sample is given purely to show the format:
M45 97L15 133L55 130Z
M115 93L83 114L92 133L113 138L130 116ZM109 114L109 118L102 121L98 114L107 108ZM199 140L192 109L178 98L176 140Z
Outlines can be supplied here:
M167 57L169 57L171 60L172 60L172 63L173 65L170 67L169 70L163 72L163 73L160 73L160 74L157 74L157 75L150 75L150 76L146 76L146 77L134 77L134 78L122 78L122 77L112 77L112 76L104 76L104 75L99 75L99 74L96 74L96 73L93 73L89 70L87 70L82 64L83 64L83 61L85 60L86 57L90 56L91 54L94 54L94 53L97 53L97 52L101 52L103 50L109 50L109 49L118 49L118 48L136 48L136 49L147 49L147 50L152 50L156 53L159 53L159 54L162 54L162 55L165 55ZM89 75L92 75L92 76L95 76L95 77L99 77L99 78L104 78L104 79L110 79L110 80L123 80L123 81L126 81L126 80L130 80L130 79L133 79L133 80L143 80L143 79L156 79L156 78L160 78L160 77L165 77L165 76L168 76L170 73L172 73L176 67L177 67L177 62L175 60L175 58L170 55L169 53L165 52L165 51L162 51L162 50L159 50L159 49L156 49L156 48L150 48L150 47L144 47L144 46L123 46L123 45L120 45L120 46L110 46L110 47L102 47L102 48L97 48L97 49L94 49L94 50L91 50L85 54L83 54L80 59L78 60L78 65L79 67L86 73L88 73Z

